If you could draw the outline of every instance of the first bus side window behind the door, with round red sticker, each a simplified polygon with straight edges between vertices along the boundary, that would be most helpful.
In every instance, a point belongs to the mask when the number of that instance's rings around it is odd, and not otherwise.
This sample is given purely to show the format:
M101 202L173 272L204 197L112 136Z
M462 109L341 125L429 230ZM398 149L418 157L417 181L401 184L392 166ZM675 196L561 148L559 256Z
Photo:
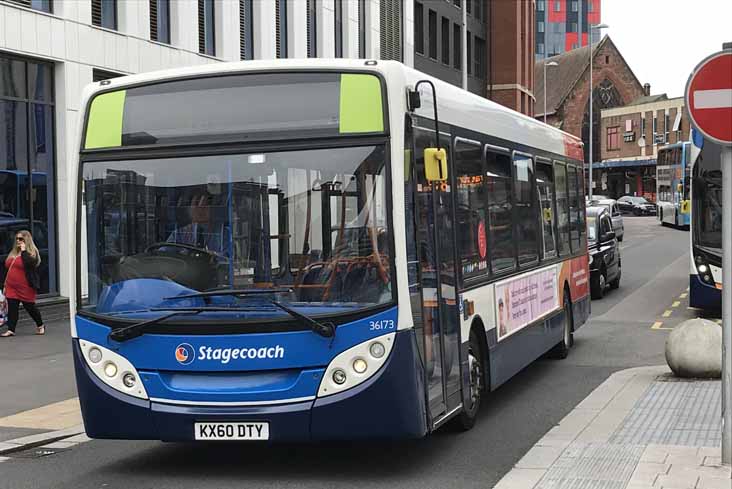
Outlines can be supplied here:
M457 244L464 279L487 275L486 182L480 143L455 138Z

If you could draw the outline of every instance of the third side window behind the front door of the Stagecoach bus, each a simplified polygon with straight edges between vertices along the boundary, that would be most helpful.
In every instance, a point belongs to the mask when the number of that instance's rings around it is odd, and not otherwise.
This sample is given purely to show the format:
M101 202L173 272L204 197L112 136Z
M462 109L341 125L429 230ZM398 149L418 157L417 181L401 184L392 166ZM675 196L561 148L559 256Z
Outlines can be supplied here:
M516 241L519 266L539 259L537 249L537 208L533 193L534 162L530 156L514 154L513 188L516 195Z

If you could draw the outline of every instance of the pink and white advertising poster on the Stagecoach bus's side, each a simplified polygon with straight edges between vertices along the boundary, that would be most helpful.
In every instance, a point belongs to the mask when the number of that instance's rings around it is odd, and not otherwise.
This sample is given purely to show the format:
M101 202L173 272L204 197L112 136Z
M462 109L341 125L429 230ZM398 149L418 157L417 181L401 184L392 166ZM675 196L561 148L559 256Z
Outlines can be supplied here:
M559 307L557 270L546 268L496 284L498 340Z

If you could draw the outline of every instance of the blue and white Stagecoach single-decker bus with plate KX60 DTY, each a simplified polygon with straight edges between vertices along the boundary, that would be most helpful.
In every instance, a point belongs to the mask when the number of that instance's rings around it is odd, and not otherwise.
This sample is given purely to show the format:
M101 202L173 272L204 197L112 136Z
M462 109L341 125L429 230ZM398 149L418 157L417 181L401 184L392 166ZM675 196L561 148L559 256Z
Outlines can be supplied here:
M587 320L582 144L531 117L372 60L82 100L71 335L92 438L469 429Z

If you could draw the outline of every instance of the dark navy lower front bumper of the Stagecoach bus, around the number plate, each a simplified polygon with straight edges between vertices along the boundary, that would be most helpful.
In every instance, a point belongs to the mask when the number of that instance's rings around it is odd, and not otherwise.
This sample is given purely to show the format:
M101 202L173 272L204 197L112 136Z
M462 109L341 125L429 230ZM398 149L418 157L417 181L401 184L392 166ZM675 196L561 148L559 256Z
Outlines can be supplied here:
M137 399L101 382L73 340L86 433L91 438L193 441L196 422L269 422L270 442L414 438L427 433L423 371L413 330L400 331L383 368L346 392L284 405L208 407Z

